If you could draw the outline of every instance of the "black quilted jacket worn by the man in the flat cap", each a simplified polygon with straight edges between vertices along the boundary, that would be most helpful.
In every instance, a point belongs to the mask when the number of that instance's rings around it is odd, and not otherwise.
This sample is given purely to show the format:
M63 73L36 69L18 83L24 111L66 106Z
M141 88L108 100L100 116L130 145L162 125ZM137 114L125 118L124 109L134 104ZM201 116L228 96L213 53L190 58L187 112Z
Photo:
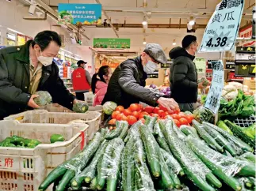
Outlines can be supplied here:
M131 103L147 103L154 106L159 94L144 88L147 73L143 71L140 57L128 59L115 69L109 81L108 90L101 104L113 101L125 108Z

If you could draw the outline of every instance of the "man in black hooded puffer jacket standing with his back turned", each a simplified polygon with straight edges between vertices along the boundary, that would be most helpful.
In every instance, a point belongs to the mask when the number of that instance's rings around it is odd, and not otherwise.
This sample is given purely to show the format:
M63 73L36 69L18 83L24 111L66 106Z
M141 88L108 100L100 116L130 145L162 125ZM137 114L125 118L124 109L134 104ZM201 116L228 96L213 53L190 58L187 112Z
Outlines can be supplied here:
M197 47L197 37L189 35L182 40L182 47L175 47L169 53L174 59L170 66L171 97L182 111L193 111L194 103L197 103L197 88L203 88L202 84L197 84L197 68L193 63Z

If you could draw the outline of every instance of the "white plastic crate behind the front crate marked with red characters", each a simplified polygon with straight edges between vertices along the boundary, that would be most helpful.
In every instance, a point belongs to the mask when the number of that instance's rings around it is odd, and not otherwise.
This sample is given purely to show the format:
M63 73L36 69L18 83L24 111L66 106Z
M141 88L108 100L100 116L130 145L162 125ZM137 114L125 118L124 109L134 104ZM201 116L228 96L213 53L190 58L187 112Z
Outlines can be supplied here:
M82 120L89 125L87 141L94 137L94 133L100 128L101 114L96 111L87 111L85 114L48 112L47 110L29 110L20 114L14 114L5 120L18 120L22 123L54 123L67 124L73 120Z

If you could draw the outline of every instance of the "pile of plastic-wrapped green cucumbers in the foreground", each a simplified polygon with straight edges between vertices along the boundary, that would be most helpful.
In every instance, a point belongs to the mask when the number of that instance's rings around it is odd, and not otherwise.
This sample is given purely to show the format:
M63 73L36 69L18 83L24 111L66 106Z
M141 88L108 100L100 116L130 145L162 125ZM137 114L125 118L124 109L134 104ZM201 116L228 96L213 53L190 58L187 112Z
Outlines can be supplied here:
M56 167L41 183L43 191L169 190L187 187L214 191L255 189L254 149L216 125L193 121L180 129L171 118L145 124L119 121L101 129L82 152Z

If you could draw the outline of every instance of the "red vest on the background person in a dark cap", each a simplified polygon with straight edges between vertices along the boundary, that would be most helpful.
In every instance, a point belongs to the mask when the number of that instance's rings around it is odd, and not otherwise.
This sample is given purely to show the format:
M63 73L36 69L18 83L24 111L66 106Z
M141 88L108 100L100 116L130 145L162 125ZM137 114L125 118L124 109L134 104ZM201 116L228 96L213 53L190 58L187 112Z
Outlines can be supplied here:
M86 79L86 70L79 67L72 73L73 88L75 91L89 90L90 84Z

